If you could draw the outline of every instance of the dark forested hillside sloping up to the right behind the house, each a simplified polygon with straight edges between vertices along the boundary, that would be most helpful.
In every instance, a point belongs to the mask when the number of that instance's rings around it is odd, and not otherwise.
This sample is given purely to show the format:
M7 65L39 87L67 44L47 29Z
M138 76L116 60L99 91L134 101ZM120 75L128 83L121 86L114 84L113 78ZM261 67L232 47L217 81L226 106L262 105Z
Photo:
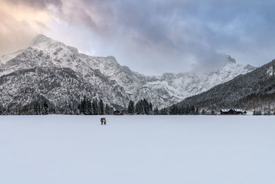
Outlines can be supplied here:
M275 60L177 103L177 107L186 105L195 105L206 110L275 110Z

